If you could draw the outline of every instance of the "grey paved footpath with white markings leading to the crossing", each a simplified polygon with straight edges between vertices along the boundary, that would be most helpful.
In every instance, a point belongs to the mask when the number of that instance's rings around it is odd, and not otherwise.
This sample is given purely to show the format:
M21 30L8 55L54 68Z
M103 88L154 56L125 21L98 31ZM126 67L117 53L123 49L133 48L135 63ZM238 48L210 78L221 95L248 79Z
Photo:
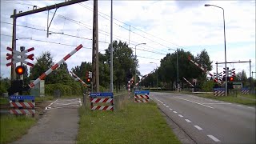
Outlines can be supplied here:
M13 144L74 144L78 134L80 98L57 99L28 134Z

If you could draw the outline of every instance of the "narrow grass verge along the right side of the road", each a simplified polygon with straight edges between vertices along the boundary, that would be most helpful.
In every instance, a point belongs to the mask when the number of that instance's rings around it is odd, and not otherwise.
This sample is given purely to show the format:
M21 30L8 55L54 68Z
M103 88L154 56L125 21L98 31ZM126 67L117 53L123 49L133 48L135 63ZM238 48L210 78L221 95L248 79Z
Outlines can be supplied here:
M243 98L235 97L234 95L229 95L227 97L225 96L214 97L213 94L194 94L194 95L203 97L203 98L217 99L224 102L234 102L234 103L240 103L248 106L256 106L256 102L254 100L243 99Z

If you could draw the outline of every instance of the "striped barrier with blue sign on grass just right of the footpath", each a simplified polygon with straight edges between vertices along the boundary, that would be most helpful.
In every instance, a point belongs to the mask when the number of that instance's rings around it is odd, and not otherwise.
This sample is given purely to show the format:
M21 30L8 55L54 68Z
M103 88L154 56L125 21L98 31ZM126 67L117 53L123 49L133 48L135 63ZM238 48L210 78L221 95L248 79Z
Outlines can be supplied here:
M95 105L94 105L95 104ZM90 93L90 110L114 110L113 93Z

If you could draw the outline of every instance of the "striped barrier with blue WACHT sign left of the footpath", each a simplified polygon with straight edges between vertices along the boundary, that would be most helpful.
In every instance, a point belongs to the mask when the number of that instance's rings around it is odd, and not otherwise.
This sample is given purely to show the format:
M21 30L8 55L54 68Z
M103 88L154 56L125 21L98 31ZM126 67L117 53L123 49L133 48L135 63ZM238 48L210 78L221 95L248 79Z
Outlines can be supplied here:
M18 102L16 102L18 100ZM28 100L31 102L24 102ZM30 95L11 95L10 96L10 114L35 114L34 96Z

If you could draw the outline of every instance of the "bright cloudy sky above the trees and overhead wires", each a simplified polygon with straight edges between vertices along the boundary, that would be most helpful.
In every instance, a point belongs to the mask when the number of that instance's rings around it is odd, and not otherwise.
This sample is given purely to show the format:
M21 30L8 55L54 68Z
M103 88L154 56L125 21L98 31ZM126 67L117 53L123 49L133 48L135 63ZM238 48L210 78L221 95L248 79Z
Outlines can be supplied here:
M64 1L5 1L1 0L1 76L10 77L7 67L6 50L11 47L12 22L10 15L14 9L33 10L33 6L44 7ZM255 1L114 1L113 38L137 46L138 70L149 74L160 60L177 48L199 54L206 49L213 61L211 72L216 72L215 62L224 62L224 34L222 9L205 4L221 6L226 20L226 59L227 62L250 61L255 70ZM50 10L50 19L54 10ZM46 38L47 11L17 18L17 49L34 47L38 58L42 52L50 51L54 62L82 44L84 48L69 58L68 69L80 66L81 62L91 62L93 1L81 2L59 8L50 25L50 31L63 34L50 34ZM110 44L110 1L98 1L98 44L99 52L104 53ZM74 37L66 36L73 35ZM130 41L129 41L130 39ZM55 43L52 43L55 42ZM174 49L174 50L168 50ZM133 49L134 50L134 49ZM135 51L135 50L134 50ZM134 52L135 54L135 52ZM31 62L31 61L30 61ZM35 62L35 60L34 60ZM34 63L32 62L32 63ZM155 62L152 64L150 62ZM227 64L236 73L246 70L250 76L250 64ZM223 71L225 65L218 65ZM254 78L256 74L254 74Z

